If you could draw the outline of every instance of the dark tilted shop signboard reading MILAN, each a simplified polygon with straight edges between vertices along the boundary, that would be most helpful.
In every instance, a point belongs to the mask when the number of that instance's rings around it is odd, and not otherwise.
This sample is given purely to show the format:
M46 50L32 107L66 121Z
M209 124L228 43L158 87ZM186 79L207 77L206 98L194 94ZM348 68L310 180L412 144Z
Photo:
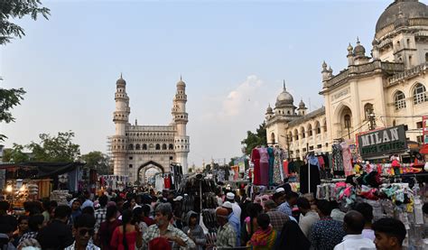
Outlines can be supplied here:
M361 157L396 153L407 149L405 125L397 125L358 135Z

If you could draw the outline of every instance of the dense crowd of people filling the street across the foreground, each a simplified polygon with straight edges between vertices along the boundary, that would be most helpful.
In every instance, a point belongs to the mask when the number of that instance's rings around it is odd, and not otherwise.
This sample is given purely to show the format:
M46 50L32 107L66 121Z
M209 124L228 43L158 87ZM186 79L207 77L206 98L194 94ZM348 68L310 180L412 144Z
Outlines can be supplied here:
M285 182L255 199L219 191L219 229L209 243L200 214L181 212L182 196L163 192L88 191L69 204L27 202L25 215L8 215L0 201L1 249L402 249L406 230L395 218L373 222L373 208L347 213L331 201L299 195Z

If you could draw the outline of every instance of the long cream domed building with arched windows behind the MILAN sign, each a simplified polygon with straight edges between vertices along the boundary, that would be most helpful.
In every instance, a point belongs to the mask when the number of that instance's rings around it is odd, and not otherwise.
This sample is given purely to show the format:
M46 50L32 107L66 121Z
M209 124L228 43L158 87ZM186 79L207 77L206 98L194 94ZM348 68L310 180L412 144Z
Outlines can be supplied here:
M422 116L428 113L428 7L417 0L395 0L376 24L371 55L357 41L348 46L348 68L333 74L322 63L320 94L324 106L305 114L282 103L266 110L268 144L280 144L293 158L309 151L329 152L337 138L355 143L356 134L373 128L406 125L407 137L421 142ZM293 107L292 107L293 106ZM285 111L285 113L284 113ZM288 113L290 112L290 113ZM370 123L374 120L375 123Z

